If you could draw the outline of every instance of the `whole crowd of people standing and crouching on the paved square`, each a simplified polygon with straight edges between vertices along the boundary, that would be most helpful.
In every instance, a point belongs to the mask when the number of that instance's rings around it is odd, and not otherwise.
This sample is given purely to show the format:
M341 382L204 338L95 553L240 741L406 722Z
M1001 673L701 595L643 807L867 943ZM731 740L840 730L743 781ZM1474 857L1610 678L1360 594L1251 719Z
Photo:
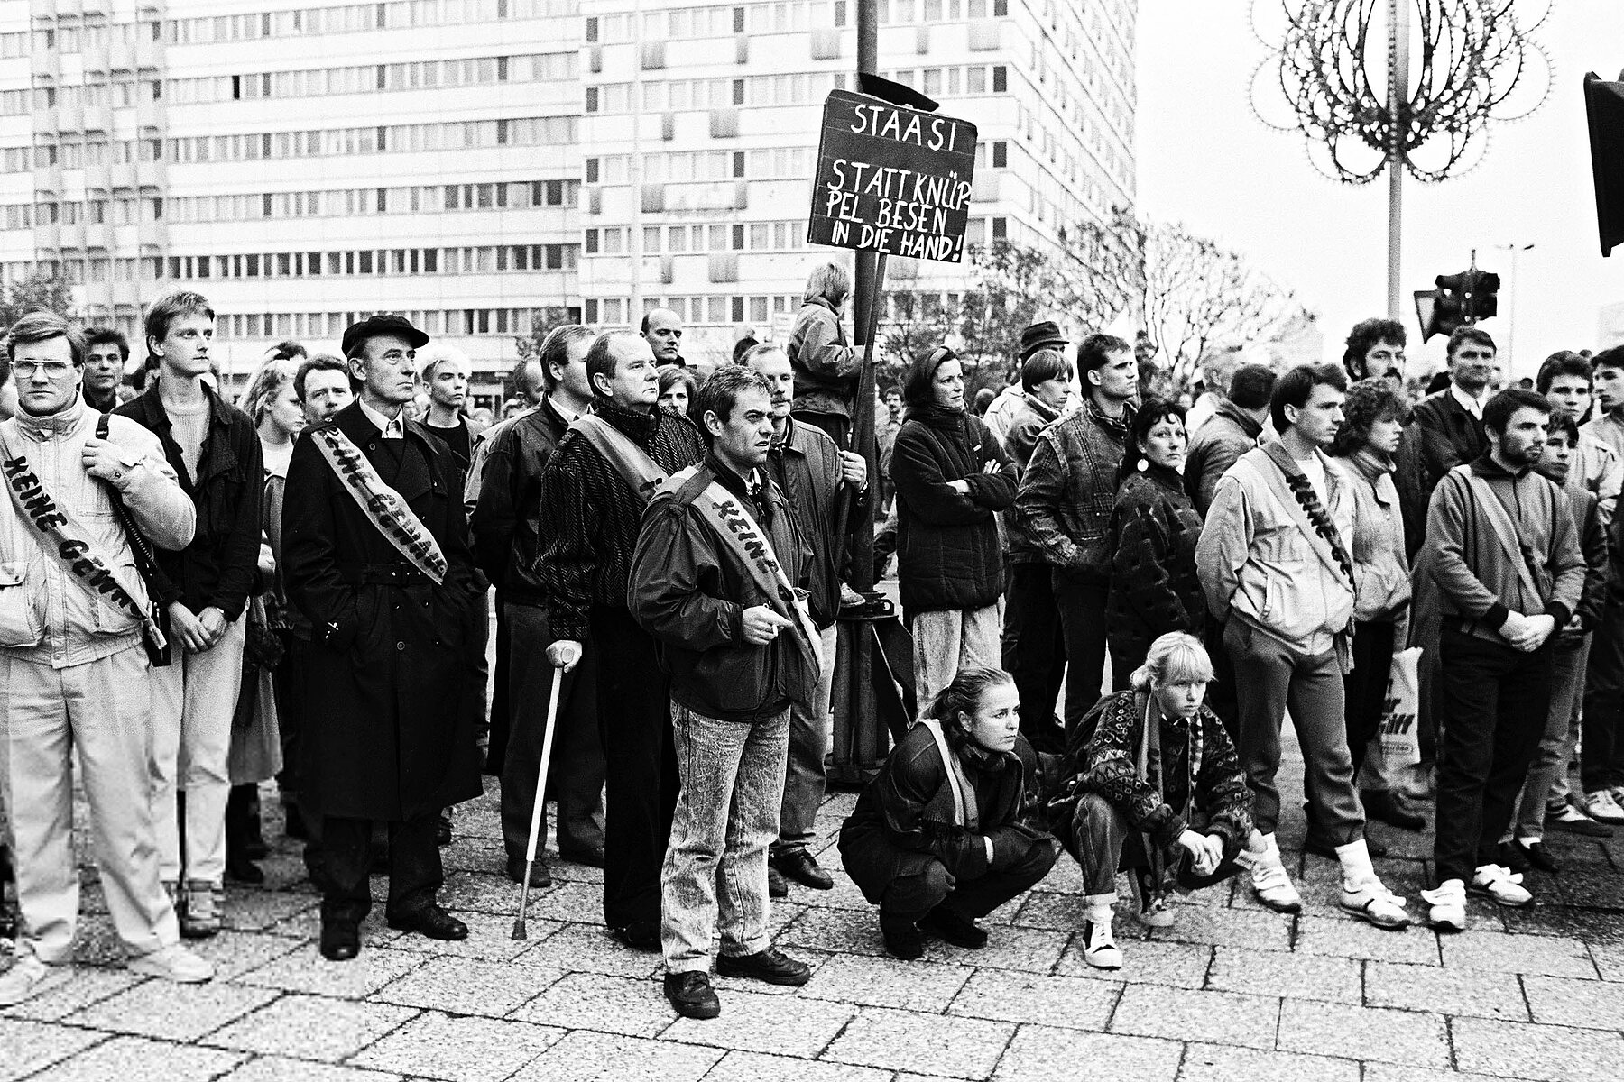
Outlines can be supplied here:
M984 946L978 920L1062 852L1099 968L1125 964L1119 873L1148 926L1171 891L1231 876L1298 912L1288 717L1304 847L1380 930L1413 917L1371 818L1434 821L1440 930L1466 926L1468 892L1528 905L1522 873L1557 868L1544 831L1624 824L1624 349L1492 389L1494 342L1466 326L1413 404L1403 328L1369 320L1341 365L1220 350L1186 409L1142 393L1129 342L1044 321L979 409L948 346L869 404L849 292L817 268L784 344L705 375L671 311L560 326L489 428L468 360L396 315L349 326L341 355L278 347L237 404L198 294L149 307L135 394L115 333L13 324L0 808L21 920L0 1004L71 959L73 751L141 973L211 977L182 941L221 930L227 879L263 879L271 779L323 957L359 954L378 871L391 928L466 938L440 847L486 774L505 874L551 884L529 844L551 800L555 858L604 869L604 923L663 954L677 1012L719 1014L713 972L804 983L770 905L833 886L812 844L836 623L862 600L848 535L880 521L921 717L833 852L895 957ZM1415 646L1411 766L1380 730Z

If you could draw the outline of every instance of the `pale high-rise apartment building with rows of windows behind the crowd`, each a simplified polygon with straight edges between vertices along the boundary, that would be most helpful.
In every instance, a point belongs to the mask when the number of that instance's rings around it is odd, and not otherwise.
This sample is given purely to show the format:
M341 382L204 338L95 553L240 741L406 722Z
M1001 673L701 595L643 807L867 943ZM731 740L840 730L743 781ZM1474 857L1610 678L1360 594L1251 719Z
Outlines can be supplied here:
M1132 0L877 0L880 68L981 130L971 242L1134 200ZM0 281L138 333L171 286L245 373L357 313L502 371L541 313L778 326L856 0L0 0ZM835 253L841 255L841 253ZM965 268L892 260L947 295Z

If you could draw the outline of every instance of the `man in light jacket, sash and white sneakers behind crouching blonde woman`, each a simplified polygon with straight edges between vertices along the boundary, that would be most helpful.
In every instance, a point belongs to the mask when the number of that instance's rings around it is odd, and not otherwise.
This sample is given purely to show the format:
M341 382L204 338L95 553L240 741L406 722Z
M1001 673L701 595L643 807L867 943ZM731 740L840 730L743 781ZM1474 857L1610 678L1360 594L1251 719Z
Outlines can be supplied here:
M1324 453L1341 427L1348 378L1337 365L1299 365L1270 402L1280 443L1241 456L1218 482L1197 545L1208 612L1226 620L1224 647L1239 691L1239 754L1257 795L1267 850L1244 857L1259 900L1296 912L1301 899L1280 860L1280 723L1302 745L1312 827L1341 865L1341 908L1379 928L1410 923L1403 899L1371 868L1364 808L1353 784L1343 722L1351 663L1353 495Z

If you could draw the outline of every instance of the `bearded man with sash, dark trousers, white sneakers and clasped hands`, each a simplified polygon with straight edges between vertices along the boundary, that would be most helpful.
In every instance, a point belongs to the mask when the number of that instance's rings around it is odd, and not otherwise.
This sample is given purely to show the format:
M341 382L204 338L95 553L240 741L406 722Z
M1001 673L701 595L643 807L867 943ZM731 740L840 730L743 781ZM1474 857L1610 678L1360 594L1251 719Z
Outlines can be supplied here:
M1562 492L1533 472L1551 404L1523 389L1483 407L1489 451L1453 467L1427 511L1439 587L1436 928L1466 926L1466 889L1505 907L1533 895L1499 863L1501 834L1551 704L1554 631L1579 608L1585 558Z

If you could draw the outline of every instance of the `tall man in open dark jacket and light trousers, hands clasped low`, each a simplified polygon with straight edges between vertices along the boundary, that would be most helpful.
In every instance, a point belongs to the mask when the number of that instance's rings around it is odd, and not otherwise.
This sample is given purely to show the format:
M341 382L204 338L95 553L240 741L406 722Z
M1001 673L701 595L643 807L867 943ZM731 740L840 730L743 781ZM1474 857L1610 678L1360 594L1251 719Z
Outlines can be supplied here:
M253 420L203 378L214 342L208 300L164 294L148 308L145 329L158 378L117 414L158 436L198 511L192 543L158 553L179 590L169 628L180 649L153 672L153 808L180 934L200 939L219 933L226 899L227 758L247 646L244 608L260 565L265 461ZM185 793L184 831L177 792Z

